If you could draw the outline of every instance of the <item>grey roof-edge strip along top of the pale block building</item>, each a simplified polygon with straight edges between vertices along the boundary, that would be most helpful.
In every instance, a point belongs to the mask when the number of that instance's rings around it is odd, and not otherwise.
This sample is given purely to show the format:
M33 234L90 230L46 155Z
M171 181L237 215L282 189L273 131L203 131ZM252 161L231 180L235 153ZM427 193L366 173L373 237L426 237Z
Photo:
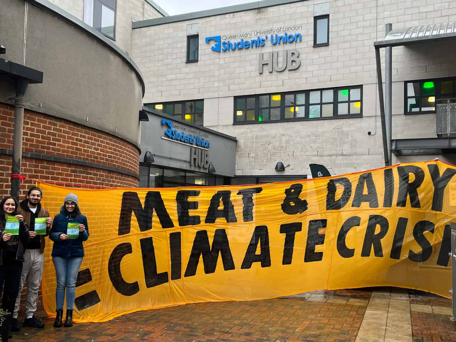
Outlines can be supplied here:
M307 0L305 0L305 1L307 1ZM192 20L192 19L198 19L198 18L205 18L208 16L220 16L220 15L228 14L228 13L243 12L246 10L257 10L259 8L291 4L294 2L303 2L303 0L262 0L262 1L249 2L248 4L240 4L240 5L214 8L212 10L200 10L197 12L179 14L177 16L166 16L163 18L135 21L133 23L133 28L135 29L135 28L141 28L141 27L163 25L163 24L169 24L169 23L173 23L173 22L177 22L177 21L186 21L186 20Z

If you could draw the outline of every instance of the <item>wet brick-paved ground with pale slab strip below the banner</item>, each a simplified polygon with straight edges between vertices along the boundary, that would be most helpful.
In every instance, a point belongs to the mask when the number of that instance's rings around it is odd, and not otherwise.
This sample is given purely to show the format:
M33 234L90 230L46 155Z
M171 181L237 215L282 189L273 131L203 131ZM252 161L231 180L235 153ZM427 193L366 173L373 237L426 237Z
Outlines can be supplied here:
M44 329L22 328L12 341L456 342L451 300L389 287L189 304L72 328L42 315Z

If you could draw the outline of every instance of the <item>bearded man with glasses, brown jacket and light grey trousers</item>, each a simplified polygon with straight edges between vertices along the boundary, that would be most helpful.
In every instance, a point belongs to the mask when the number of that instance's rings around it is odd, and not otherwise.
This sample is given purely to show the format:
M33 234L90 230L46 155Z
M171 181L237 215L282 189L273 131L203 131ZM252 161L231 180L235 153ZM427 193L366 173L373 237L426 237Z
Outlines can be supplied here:
M22 267L21 283L19 285L19 295L16 298L11 330L18 332L21 329L17 321L17 312L21 303L21 292L24 282L27 279L27 301L26 301L26 319L23 326L34 328L44 328L44 323L33 316L36 311L36 298L41 284L44 266L44 237L51 233L52 218L49 212L41 207L42 192L39 187L32 187L26 195L26 199L19 205L17 213L24 217L30 234L30 242L24 253L24 264ZM46 234L37 235L35 232L36 218L46 218ZM39 220L38 220L39 221Z

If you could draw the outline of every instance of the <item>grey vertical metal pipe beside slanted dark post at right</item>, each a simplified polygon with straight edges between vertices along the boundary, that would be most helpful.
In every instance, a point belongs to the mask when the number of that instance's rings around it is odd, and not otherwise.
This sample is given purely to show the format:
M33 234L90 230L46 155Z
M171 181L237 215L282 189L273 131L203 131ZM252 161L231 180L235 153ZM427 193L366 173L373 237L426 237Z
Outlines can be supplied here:
M385 36L393 29L393 24L385 25ZM386 144L388 147L388 163L391 166L391 135L392 135L392 72L393 72L393 48L385 48L385 124L386 124ZM386 158L385 158L386 161Z

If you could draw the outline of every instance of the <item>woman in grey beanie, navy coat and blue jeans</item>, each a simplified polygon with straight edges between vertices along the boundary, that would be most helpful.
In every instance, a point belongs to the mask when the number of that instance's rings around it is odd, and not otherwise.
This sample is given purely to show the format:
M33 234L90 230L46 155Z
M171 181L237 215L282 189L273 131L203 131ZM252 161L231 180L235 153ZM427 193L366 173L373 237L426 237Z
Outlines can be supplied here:
M51 255L57 276L57 316L54 322L54 326L57 328L62 326L65 290L67 292L67 316L63 326L73 326L76 279L79 267L83 262L83 241L86 241L88 237L87 218L79 210L78 196L70 192L63 201L60 214L57 214L52 221L52 229L49 234L49 238L54 241Z

